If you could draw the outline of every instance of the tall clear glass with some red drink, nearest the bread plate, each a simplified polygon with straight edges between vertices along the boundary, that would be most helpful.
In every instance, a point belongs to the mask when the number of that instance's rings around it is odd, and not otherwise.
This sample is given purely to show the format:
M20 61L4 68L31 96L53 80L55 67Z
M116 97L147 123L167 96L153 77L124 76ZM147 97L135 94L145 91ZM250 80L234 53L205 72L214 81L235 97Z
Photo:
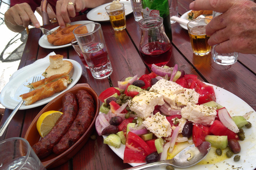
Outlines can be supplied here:
M88 32L79 34L79 29L86 27ZM85 61L95 79L107 78L112 73L108 50L101 25L97 22L83 24L73 31Z

